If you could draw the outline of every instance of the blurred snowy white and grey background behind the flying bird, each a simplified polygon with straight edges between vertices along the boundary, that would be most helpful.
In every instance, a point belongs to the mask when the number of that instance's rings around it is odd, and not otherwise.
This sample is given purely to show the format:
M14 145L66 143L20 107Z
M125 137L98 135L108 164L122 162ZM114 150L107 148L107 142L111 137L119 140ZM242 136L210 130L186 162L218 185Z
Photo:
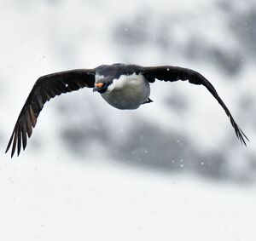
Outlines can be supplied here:
M253 0L0 3L2 240L254 240ZM26 152L3 154L38 77L115 62L201 72L247 147L207 89L160 82L135 111L56 97Z

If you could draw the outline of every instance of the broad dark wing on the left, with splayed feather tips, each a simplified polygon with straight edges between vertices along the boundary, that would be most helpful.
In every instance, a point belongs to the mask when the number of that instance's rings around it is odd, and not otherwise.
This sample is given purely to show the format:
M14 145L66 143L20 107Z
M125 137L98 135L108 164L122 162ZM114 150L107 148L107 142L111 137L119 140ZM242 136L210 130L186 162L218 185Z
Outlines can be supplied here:
M37 118L46 101L54 98L55 95L61 95L84 87L93 88L94 83L94 69L57 72L39 77L20 112L6 152L12 146L11 157L13 157L17 147L17 154L19 156L21 142L23 150L25 150L26 136L30 137L32 135L32 127L36 126Z

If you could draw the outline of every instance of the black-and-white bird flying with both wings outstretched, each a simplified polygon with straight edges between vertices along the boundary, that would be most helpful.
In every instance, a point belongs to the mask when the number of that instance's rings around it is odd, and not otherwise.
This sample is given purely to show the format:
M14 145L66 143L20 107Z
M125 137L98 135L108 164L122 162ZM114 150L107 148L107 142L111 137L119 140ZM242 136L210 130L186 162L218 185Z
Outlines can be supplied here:
M247 146L246 141L249 141L247 136L235 122L212 83L201 73L180 66L138 66L117 63L91 69L55 72L39 77L21 109L6 152L12 146L12 158L15 150L17 150L17 156L19 156L21 144L23 150L25 150L27 137L31 137L32 128L35 128L44 104L56 95L87 87L102 95L102 98L109 105L120 110L133 110L143 104L153 102L149 98L150 84L156 80L165 82L188 80L189 83L206 87L230 118L230 123L235 129L236 136L241 144Z

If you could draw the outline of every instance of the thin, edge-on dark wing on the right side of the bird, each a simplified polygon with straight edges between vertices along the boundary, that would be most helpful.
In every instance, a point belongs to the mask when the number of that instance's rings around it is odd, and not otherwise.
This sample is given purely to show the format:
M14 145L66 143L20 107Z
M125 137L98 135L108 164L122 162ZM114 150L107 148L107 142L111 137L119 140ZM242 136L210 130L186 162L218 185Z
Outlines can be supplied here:
M157 78L159 80L171 82L177 80L189 80L189 83L204 85L211 92L214 98L218 100L220 106L224 108L224 111L230 118L230 123L236 131L237 138L241 141L241 143L247 146L245 141L245 139L249 141L247 139L247 136L241 131L240 127L235 122L229 109L227 108L227 106L225 106L224 101L221 100L221 98L218 96L216 89L214 89L214 87L212 86L212 83L210 83L207 78L203 77L201 73L177 66L143 67L142 73L143 76L146 77L148 79L148 82L150 83L153 83L155 78Z

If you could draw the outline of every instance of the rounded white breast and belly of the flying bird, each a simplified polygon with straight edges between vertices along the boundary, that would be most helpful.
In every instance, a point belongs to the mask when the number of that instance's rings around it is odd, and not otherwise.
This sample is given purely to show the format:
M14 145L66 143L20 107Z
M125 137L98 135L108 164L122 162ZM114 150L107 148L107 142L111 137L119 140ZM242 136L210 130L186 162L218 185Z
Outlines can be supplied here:
M137 109L150 95L148 81L142 74L122 75L113 79L106 93L102 94L104 100L118 109Z

